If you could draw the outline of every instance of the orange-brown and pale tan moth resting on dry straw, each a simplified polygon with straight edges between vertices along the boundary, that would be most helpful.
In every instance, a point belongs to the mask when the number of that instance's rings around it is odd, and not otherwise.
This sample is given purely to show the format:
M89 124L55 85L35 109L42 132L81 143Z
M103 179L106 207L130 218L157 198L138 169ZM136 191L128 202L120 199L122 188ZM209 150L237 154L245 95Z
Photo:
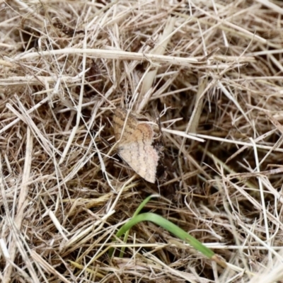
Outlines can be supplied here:
M115 139L120 140L117 145L120 157L142 178L155 183L159 156L151 145L154 137L151 126L139 122L130 113L127 116L127 110L123 108L115 109L113 125Z

